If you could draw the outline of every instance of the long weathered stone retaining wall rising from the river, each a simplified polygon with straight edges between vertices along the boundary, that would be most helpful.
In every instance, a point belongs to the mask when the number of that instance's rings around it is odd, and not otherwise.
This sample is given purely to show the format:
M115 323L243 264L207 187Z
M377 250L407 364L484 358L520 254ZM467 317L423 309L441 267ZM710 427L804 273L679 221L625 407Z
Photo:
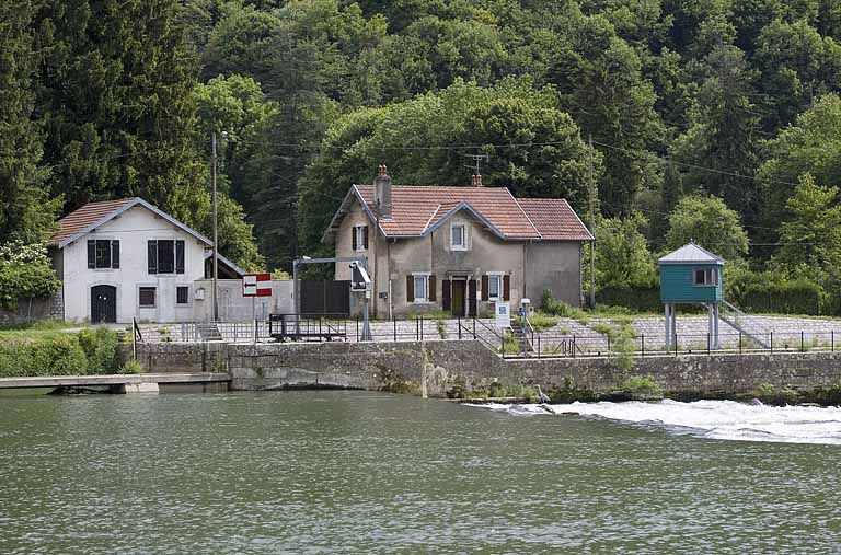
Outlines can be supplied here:
M130 348L130 347L125 347ZM443 396L453 384L563 385L610 392L629 375L650 375L671 393L746 393L760 384L809 390L841 382L841 352L647 357L622 370L610 360L502 359L479 342L391 344L141 344L138 358L153 372L229 371L232 389L306 386L388 389L419 385Z

